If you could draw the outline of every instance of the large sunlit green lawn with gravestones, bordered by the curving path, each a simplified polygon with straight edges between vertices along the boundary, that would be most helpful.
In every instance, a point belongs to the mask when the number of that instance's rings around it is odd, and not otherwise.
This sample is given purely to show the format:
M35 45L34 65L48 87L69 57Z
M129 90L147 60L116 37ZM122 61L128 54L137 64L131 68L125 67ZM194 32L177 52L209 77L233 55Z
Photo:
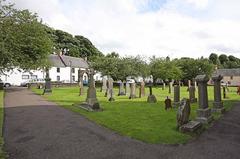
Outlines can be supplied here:
M166 96L173 99L173 95L168 94L168 89L154 88L153 94L157 97L157 103L147 103L147 96L143 98L128 99L127 96L115 96L114 102L109 102L104 93L97 88L97 97L100 102L102 112L87 112L73 103L84 102L86 96L78 96L79 88L54 88L52 95L44 97L60 106L86 116L88 119L118 132L121 135L129 136L147 143L177 144L186 143L194 135L183 134L176 129L176 111L172 109L165 111L164 100ZM137 95L138 95L137 89ZM188 97L187 87L181 87L181 98ZM208 87L209 106L212 107L213 87ZM43 90L33 89L37 94L42 94ZM87 88L85 88L85 92ZM145 88L146 94L149 92ZM115 89L115 94L118 89ZM85 93L86 94L86 93ZM197 92L196 92L197 96ZM230 88L228 99L224 99L226 110L230 110L233 102L239 97L236 88ZM191 104L191 119L196 116L197 103ZM220 114L215 113L214 119L220 118Z

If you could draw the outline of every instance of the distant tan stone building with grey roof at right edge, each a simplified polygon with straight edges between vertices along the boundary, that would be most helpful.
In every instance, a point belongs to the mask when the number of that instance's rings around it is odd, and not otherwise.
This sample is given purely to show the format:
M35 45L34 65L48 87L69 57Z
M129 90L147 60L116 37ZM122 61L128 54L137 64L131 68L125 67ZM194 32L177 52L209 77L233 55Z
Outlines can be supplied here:
M232 86L240 85L240 68L236 69L217 69L214 74L222 75L223 82Z

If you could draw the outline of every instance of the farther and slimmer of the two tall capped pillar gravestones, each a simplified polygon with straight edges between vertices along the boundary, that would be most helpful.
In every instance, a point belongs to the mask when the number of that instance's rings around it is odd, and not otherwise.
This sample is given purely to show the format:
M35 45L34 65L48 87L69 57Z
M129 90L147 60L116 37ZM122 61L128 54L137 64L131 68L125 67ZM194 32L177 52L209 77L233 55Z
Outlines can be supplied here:
M214 102L213 102L213 112L223 113L225 108L223 107L222 95L221 95L221 80L223 76L214 75L212 76L212 80L214 82Z

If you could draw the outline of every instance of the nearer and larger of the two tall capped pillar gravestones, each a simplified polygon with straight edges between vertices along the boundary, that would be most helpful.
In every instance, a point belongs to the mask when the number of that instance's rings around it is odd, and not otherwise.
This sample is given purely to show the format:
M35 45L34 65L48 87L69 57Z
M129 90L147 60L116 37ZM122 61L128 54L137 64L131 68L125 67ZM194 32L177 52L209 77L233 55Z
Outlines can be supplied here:
M197 118L196 120L201 123L209 123L213 120L211 115L211 109L208 107L208 92L207 92L207 82L209 78L207 75L198 75L196 77L198 82L198 104Z

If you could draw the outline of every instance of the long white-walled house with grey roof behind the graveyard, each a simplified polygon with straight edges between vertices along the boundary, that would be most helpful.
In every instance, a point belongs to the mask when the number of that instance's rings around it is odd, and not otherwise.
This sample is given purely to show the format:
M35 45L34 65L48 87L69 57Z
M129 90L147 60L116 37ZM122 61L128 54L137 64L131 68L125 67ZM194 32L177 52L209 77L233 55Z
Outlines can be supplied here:
M66 55L49 55L49 61L51 68L49 69L49 76L52 81L75 83L78 81L78 70L86 70L89 66L88 63L82 58L76 58ZM13 69L9 72L4 72L0 75L0 78L4 82L8 82L11 85L21 85L31 79L44 79L44 70L30 70L23 71L21 69ZM101 74L94 75L95 80L102 80ZM87 74L83 74L83 81L88 81Z

